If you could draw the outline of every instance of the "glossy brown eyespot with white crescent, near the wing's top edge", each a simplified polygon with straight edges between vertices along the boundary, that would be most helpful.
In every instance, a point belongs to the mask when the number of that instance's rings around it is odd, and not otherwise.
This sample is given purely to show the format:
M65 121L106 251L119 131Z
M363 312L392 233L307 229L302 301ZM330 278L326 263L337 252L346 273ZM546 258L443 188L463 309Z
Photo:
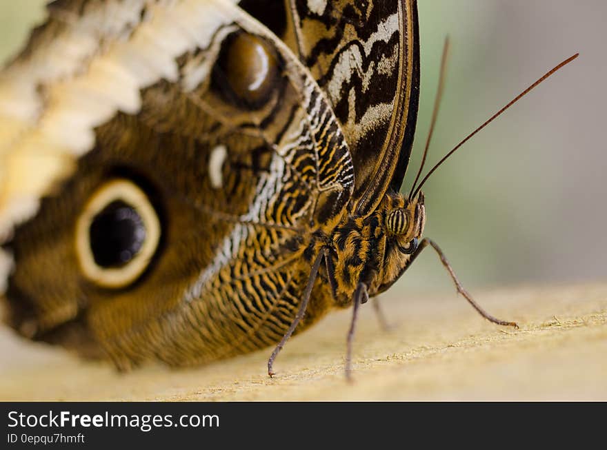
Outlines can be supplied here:
M277 56L261 37L244 32L231 34L223 42L213 78L232 103L259 108L275 88Z

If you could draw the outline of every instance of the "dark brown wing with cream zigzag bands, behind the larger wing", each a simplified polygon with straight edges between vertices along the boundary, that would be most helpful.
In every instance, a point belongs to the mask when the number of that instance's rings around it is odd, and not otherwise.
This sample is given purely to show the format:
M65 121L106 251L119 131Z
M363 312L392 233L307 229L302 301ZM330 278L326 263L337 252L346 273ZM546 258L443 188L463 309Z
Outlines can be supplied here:
M354 161L356 212L374 211L389 187L399 191L415 134L417 2L241 0L239 5L279 34L326 92Z

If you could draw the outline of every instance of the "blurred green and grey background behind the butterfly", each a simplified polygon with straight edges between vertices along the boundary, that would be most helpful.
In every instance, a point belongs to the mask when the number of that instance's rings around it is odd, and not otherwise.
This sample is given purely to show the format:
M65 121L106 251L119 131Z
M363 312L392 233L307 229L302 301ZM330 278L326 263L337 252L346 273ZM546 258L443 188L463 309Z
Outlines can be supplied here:
M44 0L0 1L0 61L45 15ZM556 74L477 135L426 184L426 235L473 286L607 279L607 2L419 0L423 149L444 37L448 81L428 167L546 70ZM422 255L399 282L452 289L438 258Z

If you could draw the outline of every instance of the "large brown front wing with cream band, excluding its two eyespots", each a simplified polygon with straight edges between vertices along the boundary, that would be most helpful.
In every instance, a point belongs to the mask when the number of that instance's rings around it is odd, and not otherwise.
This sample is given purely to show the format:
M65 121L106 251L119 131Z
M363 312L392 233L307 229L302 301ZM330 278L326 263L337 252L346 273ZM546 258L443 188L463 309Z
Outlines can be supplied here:
M53 51L77 45L70 26L97 23L123 3L83 3L78 21L61 22L65 41ZM339 123L297 57L230 2L140 3L128 33L112 28L78 60L87 70L41 73L30 82L36 90L26 86L37 116L5 154L23 158L28 176L40 154L66 164L27 192L43 200L9 243L12 323L78 347L101 342L120 367L146 358L194 364L274 344L308 278L310 223L330 229L350 201L354 171ZM234 39L261 45L275 67L260 96L241 95L223 70ZM51 50L37 52L52 62ZM31 61L16 64L31 74ZM5 83L17 83L14 67ZM162 232L141 277L108 289L82 275L74 229L114 178L148 194ZM11 227L23 220L4 216Z

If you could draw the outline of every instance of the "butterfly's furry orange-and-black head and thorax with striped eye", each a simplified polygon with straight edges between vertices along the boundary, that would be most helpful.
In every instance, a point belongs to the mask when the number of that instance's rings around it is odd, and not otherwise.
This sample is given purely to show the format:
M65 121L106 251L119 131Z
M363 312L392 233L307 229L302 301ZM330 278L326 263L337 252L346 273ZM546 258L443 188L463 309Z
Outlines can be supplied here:
M408 266L425 223L421 193L409 201L389 192L372 214L344 218L330 243L337 304L350 305L358 283L365 283L369 296L388 289Z

